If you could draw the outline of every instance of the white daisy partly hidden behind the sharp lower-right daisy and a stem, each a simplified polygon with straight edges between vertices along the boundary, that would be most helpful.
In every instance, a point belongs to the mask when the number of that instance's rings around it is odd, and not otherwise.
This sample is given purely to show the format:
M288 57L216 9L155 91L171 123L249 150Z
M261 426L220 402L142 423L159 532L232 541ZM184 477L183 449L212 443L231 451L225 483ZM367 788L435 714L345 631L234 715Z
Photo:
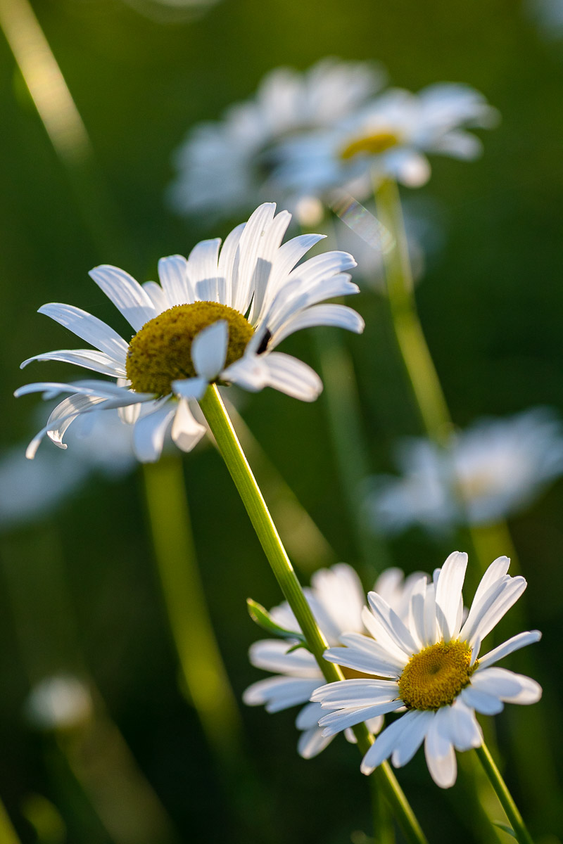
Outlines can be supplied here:
M418 582L419 575L403 580L399 569L388 569L378 578L375 589L392 604L399 615L409 609L410 588ZM345 563L321 569L311 577L311 588L306 598L317 624L331 645L354 642L359 633L365 633L362 621L364 592L360 578ZM287 603L275 607L272 619L284 630L300 631L300 627ZM264 705L268 712L279 712L291 706L306 704L296 718L295 726L301 731L297 749L304 759L316 756L329 744L333 736L322 736L318 719L322 709L318 703L309 703L311 693L322 684L321 669L315 657L304 648L291 650L292 642L264 639L254 642L249 651L252 665L272 671L275 677L258 680L246 689L243 700L249 706ZM367 722L372 733L382 728L382 717ZM346 738L355 741L354 733L347 731Z

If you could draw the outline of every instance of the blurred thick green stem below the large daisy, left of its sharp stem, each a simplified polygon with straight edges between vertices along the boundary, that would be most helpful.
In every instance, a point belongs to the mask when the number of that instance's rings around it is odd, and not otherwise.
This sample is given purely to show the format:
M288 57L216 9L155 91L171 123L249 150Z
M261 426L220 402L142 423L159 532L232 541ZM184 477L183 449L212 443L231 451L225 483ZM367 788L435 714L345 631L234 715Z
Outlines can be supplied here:
M198 572L181 457L143 467L154 555L189 699L215 755L236 754L241 717Z

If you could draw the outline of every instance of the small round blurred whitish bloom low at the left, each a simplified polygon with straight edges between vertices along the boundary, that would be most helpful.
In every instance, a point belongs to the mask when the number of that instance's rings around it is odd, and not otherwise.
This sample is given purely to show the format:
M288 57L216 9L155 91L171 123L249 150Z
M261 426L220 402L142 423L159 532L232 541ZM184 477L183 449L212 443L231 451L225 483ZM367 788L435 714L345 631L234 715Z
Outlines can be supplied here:
M41 680L25 702L30 724L41 730L64 730L84 724L94 705L88 686L71 674Z

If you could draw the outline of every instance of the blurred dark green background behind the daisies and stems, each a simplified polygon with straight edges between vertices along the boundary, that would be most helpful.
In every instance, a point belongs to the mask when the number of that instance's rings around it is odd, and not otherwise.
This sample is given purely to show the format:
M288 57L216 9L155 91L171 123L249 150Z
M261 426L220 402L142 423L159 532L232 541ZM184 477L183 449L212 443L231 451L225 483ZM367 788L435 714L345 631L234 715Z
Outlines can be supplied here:
M501 126L482 133L482 159L432 161L420 195L436 201L445 236L418 289L420 315L457 424L536 404L563 412L563 41L544 41L521 3L327 0L320 7L307 0L223 0L204 14L167 22L118 0L33 6L97 161L80 179L68 178L0 35L3 445L30 438L39 427L32 409L38 401L16 402L14 389L69 375L68 366L57 364L35 365L29 376L19 372L21 360L68 342L37 308L71 302L122 329L89 268L114 263L143 281L154 278L160 256L186 254L203 236L230 230L228 224L191 228L165 207L171 151L187 129L252 95L269 69L304 69L325 56L381 61L392 84L414 90L465 82L501 111ZM382 300L365 294L353 304L367 329L346 342L357 362L372 465L388 471L392 442L420 433L419 423ZM304 335L285 350L315 363ZM267 390L247 398L242 415L336 557L354 564L358 552L323 402L307 405ZM53 447L47 442L41 449ZM57 456L64 461L67 454ZM280 595L217 454L198 449L184 463L204 586L240 701L246 685L263 676L246 658L260 636L246 598L271 606ZM539 706L557 757L562 512L559 482L511 523L528 577L530 623L544 630L533 650L533 675L544 684ZM341 844L355 830L369 833L368 787L357 753L338 739L316 760L301 760L294 711L242 711L245 760L228 776L220 773L179 690L140 473L114 484L93 480L55 516L4 532L2 546L0 794L24 844L136 841L108 833L56 740L33 733L24 720L30 682L78 670L81 661L181 841ZM450 550L416 531L392 543L393 561L405 571L431 571ZM370 572L363 573L371 587ZM310 572L300 574L307 580ZM508 621L506 631L517 629ZM511 665L518 670L517 660ZM512 729L523 728L521 708L515 707ZM545 844L556 841L561 819L533 814L507 759L507 781L533 832ZM541 759L529 765L541 766ZM463 776L451 792L438 793L417 757L398 778L430 841L478 840ZM24 818L33 794L51 805L41 809L52 814L51 826L39 824L41 834ZM53 820L53 807L66 832Z

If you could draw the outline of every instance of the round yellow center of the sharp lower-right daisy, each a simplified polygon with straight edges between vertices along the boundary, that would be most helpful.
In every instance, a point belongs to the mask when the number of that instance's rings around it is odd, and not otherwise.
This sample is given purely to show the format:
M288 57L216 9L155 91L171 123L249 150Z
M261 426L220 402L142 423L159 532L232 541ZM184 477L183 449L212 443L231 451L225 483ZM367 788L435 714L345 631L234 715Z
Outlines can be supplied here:
M471 662L465 641L439 641L410 657L399 677L398 688L408 709L449 706L469 684L478 662Z

